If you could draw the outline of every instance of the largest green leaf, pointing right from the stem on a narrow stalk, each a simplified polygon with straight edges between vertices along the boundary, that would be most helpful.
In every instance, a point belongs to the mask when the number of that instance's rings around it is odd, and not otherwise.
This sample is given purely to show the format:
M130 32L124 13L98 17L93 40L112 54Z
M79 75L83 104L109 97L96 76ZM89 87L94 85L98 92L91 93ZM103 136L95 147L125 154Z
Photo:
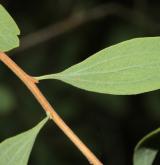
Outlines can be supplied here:
M121 42L61 73L37 79L58 79L88 91L118 95L159 89L160 37Z

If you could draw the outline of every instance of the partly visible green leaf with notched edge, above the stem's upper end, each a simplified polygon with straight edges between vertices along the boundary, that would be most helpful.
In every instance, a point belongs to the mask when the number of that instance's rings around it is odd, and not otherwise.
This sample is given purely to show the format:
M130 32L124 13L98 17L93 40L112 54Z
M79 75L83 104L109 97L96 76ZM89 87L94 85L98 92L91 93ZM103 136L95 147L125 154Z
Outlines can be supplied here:
M20 31L6 11L6 9L0 5L0 51L5 52L19 46L18 36Z

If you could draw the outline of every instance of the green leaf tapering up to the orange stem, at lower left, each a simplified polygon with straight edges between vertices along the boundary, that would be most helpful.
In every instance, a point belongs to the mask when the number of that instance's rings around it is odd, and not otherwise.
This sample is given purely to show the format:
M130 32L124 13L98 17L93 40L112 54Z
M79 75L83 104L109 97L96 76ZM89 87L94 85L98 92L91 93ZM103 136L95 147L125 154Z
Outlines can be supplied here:
M0 164L27 165L36 136L47 120L48 117L34 128L0 143Z

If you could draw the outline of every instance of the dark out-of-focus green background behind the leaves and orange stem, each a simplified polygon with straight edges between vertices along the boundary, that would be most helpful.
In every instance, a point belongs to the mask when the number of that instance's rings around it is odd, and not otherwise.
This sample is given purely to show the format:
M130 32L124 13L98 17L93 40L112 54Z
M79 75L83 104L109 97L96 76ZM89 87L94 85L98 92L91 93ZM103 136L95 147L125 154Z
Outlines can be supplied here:
M1 0L21 29L20 38L66 20L73 13L93 15L109 3L115 10L33 47L9 55L27 73L55 73L93 53L134 37L160 34L160 1L156 0ZM107 11L106 10L106 11ZM74 22L73 22L74 24ZM58 30L58 29L57 29ZM34 41L33 39L29 42ZM136 50L135 50L136 51ZM39 84L68 125L106 165L131 165L136 143L160 125L160 91L135 96L86 92L59 81ZM0 64L0 141L33 127L45 114L27 88ZM49 122L41 131L29 165L87 165L66 136ZM159 164L159 163L158 163Z

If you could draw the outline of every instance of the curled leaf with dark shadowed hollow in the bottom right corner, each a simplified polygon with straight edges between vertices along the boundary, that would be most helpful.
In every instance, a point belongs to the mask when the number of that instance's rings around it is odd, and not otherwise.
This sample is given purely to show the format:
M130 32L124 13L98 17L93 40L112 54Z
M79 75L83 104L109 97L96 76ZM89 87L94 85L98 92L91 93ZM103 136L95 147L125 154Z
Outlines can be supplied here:
M160 128L146 135L137 144L134 165L152 165L160 148Z

